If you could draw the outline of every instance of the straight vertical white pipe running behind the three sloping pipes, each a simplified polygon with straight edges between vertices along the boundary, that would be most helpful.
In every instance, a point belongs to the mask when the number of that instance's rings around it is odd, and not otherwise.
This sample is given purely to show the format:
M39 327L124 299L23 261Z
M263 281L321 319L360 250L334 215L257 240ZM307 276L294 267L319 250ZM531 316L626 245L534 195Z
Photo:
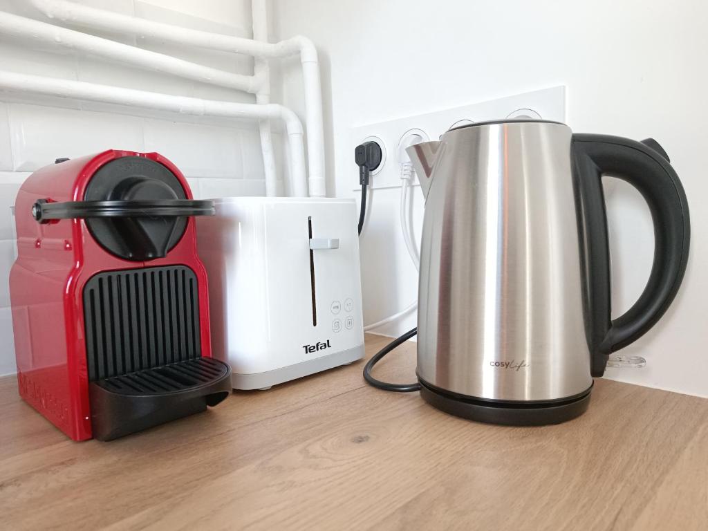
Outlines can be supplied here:
M251 0L251 19L253 21L253 40L268 42L268 13L265 0ZM268 59L256 57L253 62L253 75L261 79L261 88L256 93L256 103L270 103L270 69ZM273 153L273 137L270 133L270 121L259 120L258 132L261 135L261 152L263 153L263 173L265 174L265 195L278 197L282 194L278 173L275 170L275 154Z

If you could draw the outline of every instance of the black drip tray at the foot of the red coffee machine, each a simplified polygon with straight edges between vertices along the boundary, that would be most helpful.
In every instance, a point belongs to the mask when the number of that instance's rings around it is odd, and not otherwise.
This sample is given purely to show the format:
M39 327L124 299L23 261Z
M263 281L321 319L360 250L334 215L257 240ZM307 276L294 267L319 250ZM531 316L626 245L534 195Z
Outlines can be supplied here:
M91 382L93 437L112 440L216 406L231 392L231 369L195 358Z

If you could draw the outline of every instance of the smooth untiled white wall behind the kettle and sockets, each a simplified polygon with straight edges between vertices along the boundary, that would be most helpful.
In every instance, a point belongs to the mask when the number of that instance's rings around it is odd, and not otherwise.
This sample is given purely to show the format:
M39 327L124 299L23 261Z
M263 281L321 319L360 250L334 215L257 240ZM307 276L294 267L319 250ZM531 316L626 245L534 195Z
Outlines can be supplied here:
M690 261L666 316L624 350L644 356L646 367L607 376L708 396L706 2L275 0L274 6L278 38L307 35L321 52L330 190L336 184L337 195L352 195L356 184L350 127L547 86L566 85L567 121L576 132L658 139L690 203ZM284 103L299 108L297 62L284 71ZM416 296L398 229L399 190L372 196L361 244L367 322ZM629 185L610 182L607 204L618 316L644 287L653 241L648 209ZM420 200L416 218L420 223ZM413 326L409 316L382 331L396 335Z

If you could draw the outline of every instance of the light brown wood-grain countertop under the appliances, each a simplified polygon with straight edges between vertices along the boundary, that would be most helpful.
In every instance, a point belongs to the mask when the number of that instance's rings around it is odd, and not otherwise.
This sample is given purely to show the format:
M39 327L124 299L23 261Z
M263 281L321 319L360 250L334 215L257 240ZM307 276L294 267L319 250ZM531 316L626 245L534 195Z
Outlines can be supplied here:
M412 381L414 348L377 375ZM708 400L598 379L580 418L508 428L362 366L113 442L72 442L2 378L0 528L708 529Z

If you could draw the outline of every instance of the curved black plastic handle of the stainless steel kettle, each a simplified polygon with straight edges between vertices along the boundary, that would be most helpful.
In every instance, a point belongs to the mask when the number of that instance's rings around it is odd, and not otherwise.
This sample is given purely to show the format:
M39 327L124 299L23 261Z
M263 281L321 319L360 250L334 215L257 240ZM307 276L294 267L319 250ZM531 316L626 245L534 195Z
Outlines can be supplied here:
M602 376L607 355L644 335L666 312L683 280L688 260L688 203L668 156L653 139L643 142L606 135L573 135L573 161L581 202L588 282L593 376ZM610 256L601 178L604 173L634 185L653 220L654 257L649 281L627 312L610 319Z

